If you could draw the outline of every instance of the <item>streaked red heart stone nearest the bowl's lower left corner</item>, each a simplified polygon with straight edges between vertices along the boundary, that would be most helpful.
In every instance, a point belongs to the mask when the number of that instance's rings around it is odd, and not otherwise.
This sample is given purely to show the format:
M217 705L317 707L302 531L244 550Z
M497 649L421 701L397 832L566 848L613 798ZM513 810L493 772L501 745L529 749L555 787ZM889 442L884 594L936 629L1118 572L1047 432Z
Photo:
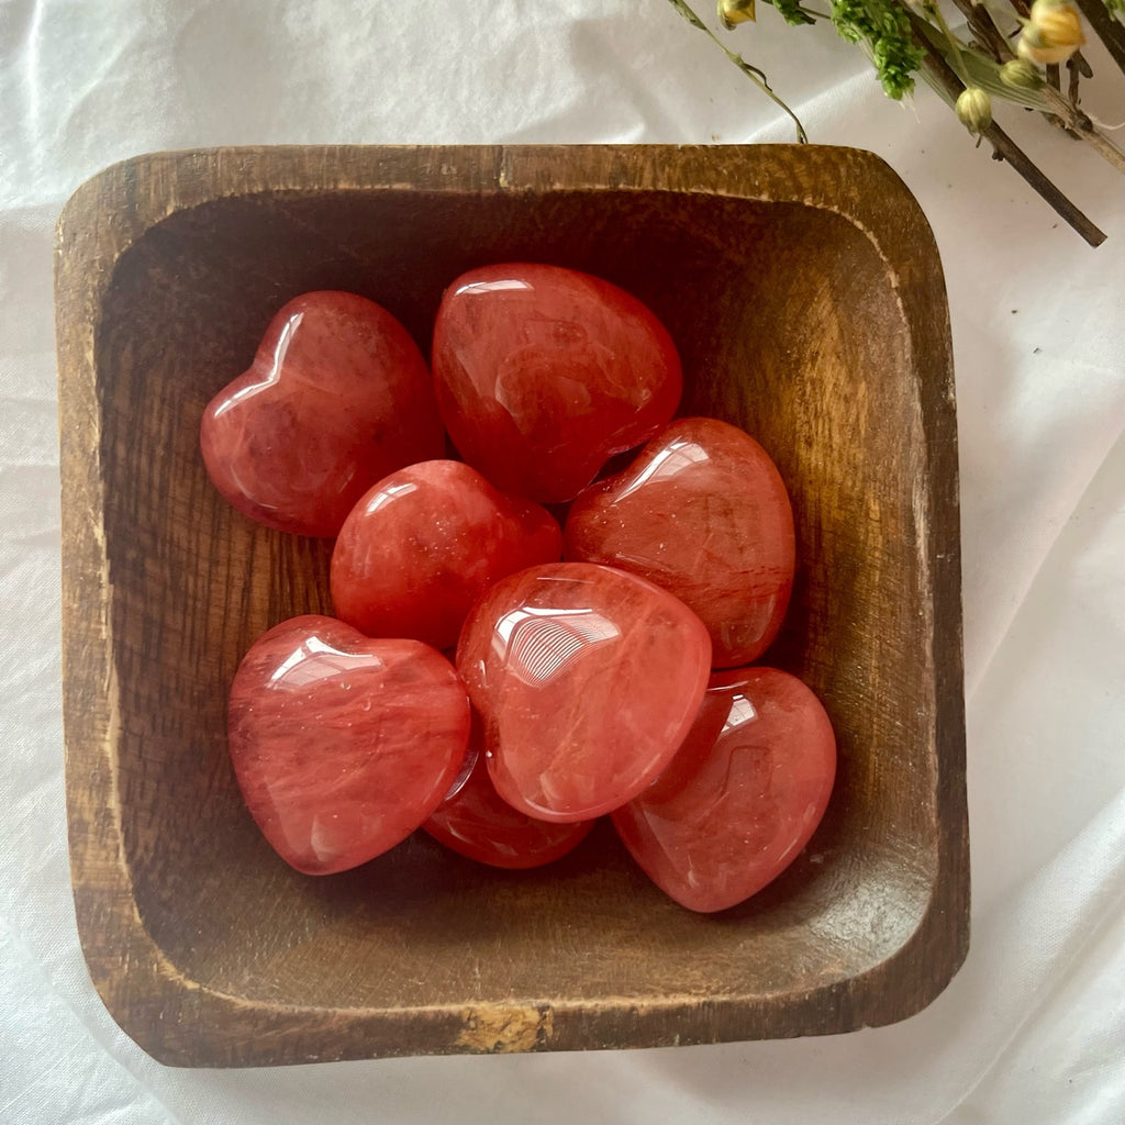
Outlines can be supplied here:
M298 871L328 875L426 820L457 776L469 720L465 687L440 652L306 615L246 654L227 738L266 838Z

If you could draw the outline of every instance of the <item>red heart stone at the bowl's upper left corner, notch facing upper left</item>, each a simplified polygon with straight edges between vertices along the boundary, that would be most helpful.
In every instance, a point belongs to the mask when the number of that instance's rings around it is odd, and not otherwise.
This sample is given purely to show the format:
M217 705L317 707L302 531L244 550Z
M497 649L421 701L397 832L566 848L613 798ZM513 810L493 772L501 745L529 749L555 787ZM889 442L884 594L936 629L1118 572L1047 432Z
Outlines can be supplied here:
M385 308L307 292L270 322L254 361L204 411L199 443L218 490L244 515L332 537L388 472L441 457L425 360Z

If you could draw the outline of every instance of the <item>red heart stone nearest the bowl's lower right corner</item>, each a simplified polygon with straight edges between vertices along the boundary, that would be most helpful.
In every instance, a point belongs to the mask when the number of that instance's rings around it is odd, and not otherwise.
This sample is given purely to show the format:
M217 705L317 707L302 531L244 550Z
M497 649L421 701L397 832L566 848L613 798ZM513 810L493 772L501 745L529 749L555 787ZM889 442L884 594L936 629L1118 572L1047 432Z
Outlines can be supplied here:
M775 668L717 673L672 765L613 813L618 835L681 906L748 899L809 842L836 774L825 709Z

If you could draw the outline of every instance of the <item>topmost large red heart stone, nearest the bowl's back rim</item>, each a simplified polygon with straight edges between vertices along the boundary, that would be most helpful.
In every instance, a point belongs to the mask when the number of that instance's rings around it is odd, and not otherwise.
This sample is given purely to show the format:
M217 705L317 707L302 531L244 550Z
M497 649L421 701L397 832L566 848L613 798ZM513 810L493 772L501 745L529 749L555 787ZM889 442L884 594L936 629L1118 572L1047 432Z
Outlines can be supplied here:
M672 338L636 297L526 263L470 270L446 290L433 374L465 460L540 503L573 498L650 438L683 388Z

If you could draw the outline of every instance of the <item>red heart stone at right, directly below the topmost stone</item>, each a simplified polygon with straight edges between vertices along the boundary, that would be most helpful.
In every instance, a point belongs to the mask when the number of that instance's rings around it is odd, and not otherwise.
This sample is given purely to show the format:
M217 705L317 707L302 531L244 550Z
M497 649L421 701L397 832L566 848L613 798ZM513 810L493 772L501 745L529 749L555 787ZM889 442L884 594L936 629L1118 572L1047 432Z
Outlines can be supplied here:
M716 667L757 659L793 588L793 513L766 451L736 426L678 418L623 471L587 488L568 559L638 574L708 627Z

